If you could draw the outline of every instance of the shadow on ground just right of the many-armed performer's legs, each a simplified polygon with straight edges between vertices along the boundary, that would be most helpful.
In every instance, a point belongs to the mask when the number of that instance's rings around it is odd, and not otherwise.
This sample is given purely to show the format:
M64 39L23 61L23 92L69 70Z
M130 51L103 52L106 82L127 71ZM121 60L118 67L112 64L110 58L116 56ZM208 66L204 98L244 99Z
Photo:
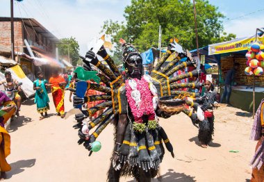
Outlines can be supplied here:
M165 174L159 176L157 179L154 179L153 181L162 181L162 182L170 182L170 181L176 181L176 182L193 182L195 177L186 175L184 173L174 172L173 169L168 169L168 172ZM129 181L129 182L133 182Z

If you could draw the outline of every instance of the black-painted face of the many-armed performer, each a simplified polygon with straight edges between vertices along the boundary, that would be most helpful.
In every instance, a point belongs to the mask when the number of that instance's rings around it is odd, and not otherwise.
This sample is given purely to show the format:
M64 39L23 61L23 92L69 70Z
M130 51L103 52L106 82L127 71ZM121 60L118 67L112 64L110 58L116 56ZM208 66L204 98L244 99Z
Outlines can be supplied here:
M130 56L126 60L126 67L130 76L139 75L142 72L142 58L139 55Z

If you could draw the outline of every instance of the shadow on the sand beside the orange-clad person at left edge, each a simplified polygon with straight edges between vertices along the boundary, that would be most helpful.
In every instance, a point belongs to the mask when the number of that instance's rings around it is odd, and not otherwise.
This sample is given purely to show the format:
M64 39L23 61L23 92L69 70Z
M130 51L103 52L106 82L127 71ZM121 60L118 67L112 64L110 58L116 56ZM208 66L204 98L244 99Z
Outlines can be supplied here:
M10 165L12 169L10 172L6 173L7 179L10 179L15 174L24 172L24 168L32 167L33 165L35 165L35 158L28 160L18 160L17 162L11 163Z

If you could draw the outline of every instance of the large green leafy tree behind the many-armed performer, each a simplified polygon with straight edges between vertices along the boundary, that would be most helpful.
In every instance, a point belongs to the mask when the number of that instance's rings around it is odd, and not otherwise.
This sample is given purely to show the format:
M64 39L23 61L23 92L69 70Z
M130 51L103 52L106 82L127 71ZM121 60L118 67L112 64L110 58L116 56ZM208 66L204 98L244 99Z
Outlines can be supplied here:
M197 29L199 47L236 38L224 33L224 15L208 0L196 0ZM119 38L131 42L140 51L158 47L158 27L162 29L162 46L167 46L170 38L177 38L186 49L196 49L195 19L190 0L131 0L124 10L124 22L104 22L102 31L111 35L112 42ZM117 47L115 55L119 54ZM118 56L117 56L118 57Z

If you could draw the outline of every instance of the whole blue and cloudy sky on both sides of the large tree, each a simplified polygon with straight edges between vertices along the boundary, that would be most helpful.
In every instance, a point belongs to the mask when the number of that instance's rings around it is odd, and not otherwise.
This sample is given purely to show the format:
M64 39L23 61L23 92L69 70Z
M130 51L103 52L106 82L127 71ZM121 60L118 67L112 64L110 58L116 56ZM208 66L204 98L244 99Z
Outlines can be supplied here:
M97 37L104 21L124 21L124 8L130 0L23 0L15 1L14 17L33 17L57 38L74 37L84 55L88 43ZM209 0L226 16L224 31L237 38L264 27L264 3L251 0ZM0 0L0 17L10 17L10 1ZM231 20L230 20L231 19Z

